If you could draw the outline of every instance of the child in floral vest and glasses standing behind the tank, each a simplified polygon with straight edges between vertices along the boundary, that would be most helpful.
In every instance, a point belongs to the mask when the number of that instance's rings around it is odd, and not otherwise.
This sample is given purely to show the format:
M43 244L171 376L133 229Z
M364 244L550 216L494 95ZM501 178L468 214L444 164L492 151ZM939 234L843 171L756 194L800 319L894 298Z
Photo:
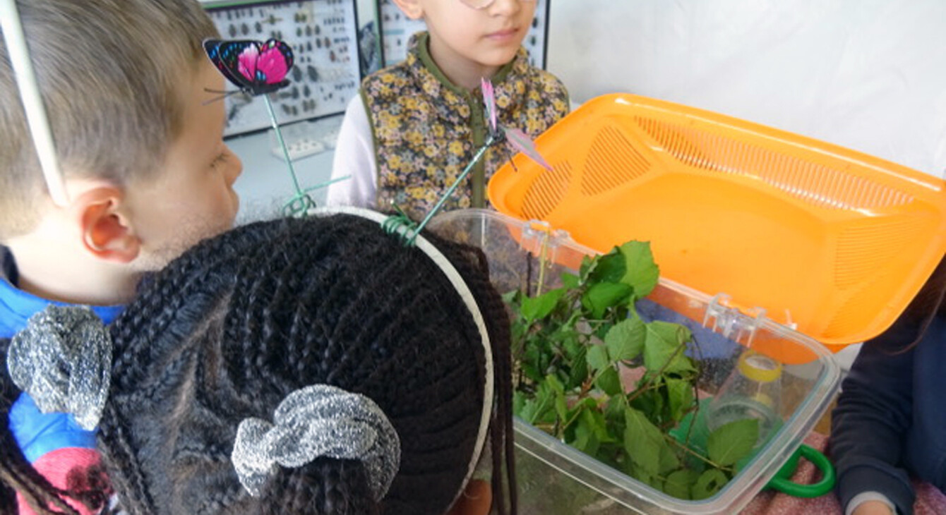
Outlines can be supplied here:
M565 86L529 64L521 47L534 0L394 0L423 18L407 59L361 82L339 131L330 205L427 214L487 137L481 78L492 81L499 124L532 137L569 112ZM511 157L493 146L444 210L486 205L485 184Z

